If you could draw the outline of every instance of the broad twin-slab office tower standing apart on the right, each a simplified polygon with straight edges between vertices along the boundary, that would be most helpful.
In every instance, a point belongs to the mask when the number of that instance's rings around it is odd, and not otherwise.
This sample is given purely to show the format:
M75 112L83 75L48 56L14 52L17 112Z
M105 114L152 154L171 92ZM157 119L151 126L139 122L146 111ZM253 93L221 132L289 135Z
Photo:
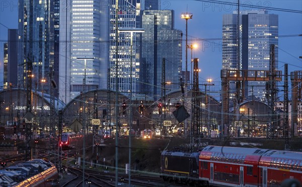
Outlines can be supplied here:
M222 19L222 69L236 70L237 58L237 11L223 15ZM278 45L278 15L266 11L240 12L240 69L269 70L270 45ZM278 50L275 51L276 69L278 68ZM262 73L262 72L259 72ZM249 76L253 76L249 74ZM249 81L246 96L265 99L265 82ZM235 84L230 83L234 93Z

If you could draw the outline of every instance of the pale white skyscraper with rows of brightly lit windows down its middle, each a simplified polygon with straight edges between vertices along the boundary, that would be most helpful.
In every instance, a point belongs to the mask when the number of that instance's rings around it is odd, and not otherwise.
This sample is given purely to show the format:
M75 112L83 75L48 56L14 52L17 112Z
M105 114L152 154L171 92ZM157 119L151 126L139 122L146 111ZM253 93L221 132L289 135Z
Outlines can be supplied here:
M107 88L109 2L60 3L59 99L68 103L82 91Z

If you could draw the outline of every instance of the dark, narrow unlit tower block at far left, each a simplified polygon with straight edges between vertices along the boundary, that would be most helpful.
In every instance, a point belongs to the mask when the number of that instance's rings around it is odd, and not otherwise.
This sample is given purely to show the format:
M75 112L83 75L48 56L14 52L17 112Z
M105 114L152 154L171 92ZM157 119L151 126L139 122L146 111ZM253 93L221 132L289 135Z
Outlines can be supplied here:
M8 64L7 64L7 82L14 87L18 83L18 29L9 29L8 31Z

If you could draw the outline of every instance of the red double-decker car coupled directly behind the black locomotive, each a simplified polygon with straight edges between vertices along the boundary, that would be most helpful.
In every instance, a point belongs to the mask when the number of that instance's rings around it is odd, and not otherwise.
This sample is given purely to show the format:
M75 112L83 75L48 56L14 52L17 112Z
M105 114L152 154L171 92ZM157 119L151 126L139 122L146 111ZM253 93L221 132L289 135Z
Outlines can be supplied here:
M215 186L259 186L258 163L266 149L207 146L199 156L199 179Z

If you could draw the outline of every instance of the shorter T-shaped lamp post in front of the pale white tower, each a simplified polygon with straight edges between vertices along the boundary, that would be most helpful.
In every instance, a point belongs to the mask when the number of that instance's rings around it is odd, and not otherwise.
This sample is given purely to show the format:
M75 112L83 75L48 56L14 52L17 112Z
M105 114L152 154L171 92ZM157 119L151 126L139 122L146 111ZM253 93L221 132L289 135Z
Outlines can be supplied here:
M86 92L86 61L94 60L94 58L77 57L77 60L84 60L84 79L83 79L83 94ZM85 131L86 131L86 119L85 119L86 97L84 96L84 113L83 113L83 187L85 186Z

